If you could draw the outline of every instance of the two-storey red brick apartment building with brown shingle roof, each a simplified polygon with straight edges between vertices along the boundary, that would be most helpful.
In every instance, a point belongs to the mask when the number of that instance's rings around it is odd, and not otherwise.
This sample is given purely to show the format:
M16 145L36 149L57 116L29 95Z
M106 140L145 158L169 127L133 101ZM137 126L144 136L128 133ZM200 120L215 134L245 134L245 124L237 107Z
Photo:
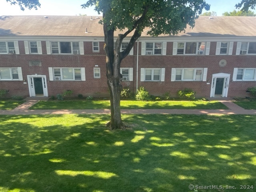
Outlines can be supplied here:
M0 89L8 95L108 96L100 17L0 16ZM145 30L122 61L123 86L150 94L248 96L256 86L256 17L200 16L175 36ZM116 35L118 33L116 32ZM125 49L128 39L124 39Z

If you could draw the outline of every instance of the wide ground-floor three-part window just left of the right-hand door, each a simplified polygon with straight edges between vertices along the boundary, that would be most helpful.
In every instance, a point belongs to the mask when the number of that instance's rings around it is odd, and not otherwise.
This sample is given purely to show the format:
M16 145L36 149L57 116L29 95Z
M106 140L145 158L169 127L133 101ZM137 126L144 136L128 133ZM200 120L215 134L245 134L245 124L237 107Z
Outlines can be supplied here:
M175 81L202 81L203 69L183 68L175 72Z

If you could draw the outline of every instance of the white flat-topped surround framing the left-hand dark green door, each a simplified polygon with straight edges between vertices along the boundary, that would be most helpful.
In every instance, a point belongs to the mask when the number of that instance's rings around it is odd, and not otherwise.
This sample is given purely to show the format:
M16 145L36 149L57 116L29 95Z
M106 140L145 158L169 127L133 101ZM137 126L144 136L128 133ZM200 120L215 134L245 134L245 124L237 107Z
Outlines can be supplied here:
M42 86L43 86L44 97L48 97L46 75L38 75L38 74L27 75L29 96L30 97L35 97L36 96L35 86L34 86L34 78L35 77L36 78L42 78Z

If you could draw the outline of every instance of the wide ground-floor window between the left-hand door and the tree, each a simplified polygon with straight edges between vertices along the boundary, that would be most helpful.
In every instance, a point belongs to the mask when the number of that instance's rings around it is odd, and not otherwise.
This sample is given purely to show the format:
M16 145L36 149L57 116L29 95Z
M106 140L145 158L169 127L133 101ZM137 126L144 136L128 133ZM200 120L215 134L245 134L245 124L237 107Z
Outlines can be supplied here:
M54 80L81 80L81 68L54 68Z

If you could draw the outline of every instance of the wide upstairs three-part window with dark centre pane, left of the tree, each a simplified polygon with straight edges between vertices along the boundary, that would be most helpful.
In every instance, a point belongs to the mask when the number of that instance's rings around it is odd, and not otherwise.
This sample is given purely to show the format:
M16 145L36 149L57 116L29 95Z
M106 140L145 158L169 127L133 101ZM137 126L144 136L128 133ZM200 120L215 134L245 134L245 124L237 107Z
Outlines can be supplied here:
M52 54L79 54L79 42L51 42Z

